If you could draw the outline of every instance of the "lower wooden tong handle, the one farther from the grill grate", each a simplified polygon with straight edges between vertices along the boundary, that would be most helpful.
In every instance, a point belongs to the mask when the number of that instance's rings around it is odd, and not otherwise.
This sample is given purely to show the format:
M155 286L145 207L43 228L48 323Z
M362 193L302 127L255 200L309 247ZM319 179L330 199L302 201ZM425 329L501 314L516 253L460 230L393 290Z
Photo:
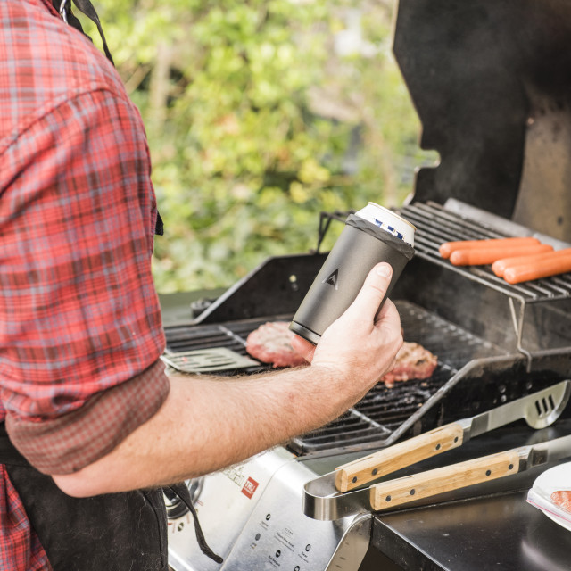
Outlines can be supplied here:
M435 468L371 486L370 502L375 511L393 508L410 501L429 498L438 493L459 490L503 476L517 474L517 451L505 451L483 458Z

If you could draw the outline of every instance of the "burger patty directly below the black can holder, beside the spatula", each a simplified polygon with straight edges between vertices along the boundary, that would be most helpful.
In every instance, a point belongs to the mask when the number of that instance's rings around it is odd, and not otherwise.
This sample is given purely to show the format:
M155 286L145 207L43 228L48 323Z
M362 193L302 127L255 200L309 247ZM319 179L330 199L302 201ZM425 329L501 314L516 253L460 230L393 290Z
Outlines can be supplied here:
M269 321L248 335L246 352L254 359L271 363L274 367L307 365L307 361L292 347L294 335L288 321Z

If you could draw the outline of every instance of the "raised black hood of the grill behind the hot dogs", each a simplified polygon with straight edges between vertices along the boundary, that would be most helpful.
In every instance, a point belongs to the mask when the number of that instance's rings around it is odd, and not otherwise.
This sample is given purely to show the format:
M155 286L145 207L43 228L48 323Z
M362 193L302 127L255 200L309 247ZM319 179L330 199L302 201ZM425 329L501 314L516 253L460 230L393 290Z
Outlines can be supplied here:
M441 159L414 199L570 241L571 2L400 0L393 51Z

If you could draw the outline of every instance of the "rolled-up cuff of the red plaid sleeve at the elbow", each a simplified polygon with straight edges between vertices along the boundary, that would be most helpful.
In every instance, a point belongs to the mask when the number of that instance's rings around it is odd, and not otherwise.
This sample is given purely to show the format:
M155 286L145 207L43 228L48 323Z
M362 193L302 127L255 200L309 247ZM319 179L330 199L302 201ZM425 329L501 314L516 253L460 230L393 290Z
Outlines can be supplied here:
M32 421L8 413L13 445L44 474L71 474L111 452L161 408L170 390L162 360L137 377L98 393L79 410Z

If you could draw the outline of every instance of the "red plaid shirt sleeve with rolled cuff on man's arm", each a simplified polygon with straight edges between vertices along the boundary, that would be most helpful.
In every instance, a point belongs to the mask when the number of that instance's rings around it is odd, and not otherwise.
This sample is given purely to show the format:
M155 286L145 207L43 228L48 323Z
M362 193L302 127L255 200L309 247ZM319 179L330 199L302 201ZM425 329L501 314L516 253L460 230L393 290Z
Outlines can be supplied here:
M69 473L169 391L145 131L126 97L102 88L62 101L0 157L6 427L36 468Z

